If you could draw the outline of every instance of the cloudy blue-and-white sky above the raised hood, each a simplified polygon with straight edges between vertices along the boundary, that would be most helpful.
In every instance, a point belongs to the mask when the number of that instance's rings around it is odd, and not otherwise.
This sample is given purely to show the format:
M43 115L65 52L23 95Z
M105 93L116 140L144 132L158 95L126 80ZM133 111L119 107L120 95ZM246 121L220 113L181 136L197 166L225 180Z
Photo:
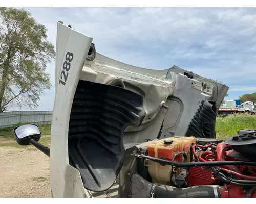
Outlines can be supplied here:
M256 92L256 8L56 8L28 7L56 45L57 21L93 37L96 50L152 69L177 65L230 87L227 99ZM52 110L52 88L38 110Z

